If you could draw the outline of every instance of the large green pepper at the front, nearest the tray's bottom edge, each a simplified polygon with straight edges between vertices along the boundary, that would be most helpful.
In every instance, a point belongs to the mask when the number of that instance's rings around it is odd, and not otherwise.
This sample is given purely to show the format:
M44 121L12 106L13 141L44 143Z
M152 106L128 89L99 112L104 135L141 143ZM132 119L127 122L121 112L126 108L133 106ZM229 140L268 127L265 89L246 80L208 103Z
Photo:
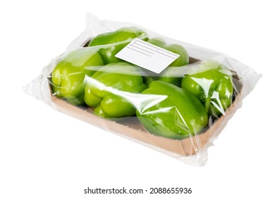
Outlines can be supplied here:
M207 125L208 117L202 103L180 87L157 80L142 94L151 95L152 104L148 101L141 104L137 117L152 134L184 139L199 134Z

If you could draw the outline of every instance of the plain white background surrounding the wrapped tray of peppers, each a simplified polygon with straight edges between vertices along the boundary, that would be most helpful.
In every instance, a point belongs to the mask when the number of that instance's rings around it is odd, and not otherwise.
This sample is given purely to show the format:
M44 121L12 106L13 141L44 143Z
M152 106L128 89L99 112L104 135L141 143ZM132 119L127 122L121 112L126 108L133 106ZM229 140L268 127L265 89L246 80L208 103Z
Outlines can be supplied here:
M274 196L272 1L6 2L0 3L0 196L89 196L83 193L87 186ZM85 29L86 12L221 51L262 73L208 149L204 167L185 165L23 93L23 86Z

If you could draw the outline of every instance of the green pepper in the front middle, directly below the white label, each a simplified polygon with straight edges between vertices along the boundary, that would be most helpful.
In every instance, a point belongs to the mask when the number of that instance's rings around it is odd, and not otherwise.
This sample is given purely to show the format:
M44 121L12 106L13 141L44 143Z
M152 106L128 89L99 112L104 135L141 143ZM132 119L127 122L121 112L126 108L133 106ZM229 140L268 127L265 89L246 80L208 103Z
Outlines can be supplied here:
M147 88L142 76L123 74L135 69L129 63L105 65L87 80L85 103L95 108L94 113L102 117L126 117L135 115L135 107L127 100L127 93L140 94Z

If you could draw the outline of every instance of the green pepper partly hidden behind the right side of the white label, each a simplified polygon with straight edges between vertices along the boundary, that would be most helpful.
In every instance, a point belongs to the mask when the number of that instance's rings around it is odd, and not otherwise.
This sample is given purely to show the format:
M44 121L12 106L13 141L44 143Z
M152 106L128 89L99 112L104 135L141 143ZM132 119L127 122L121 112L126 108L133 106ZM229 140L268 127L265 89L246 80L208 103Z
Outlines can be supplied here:
M183 48L183 46L178 45L178 44L166 44L166 42L164 42L164 40L161 38L149 39L149 40L147 40L147 42L180 55L176 59L176 61L173 61L173 63L171 63L169 65L169 67L179 67L182 65L188 65L189 56L188 56L187 51ZM146 79L146 84L149 84L150 82L152 82L154 80L161 80L164 82L175 84L178 87L181 87L181 77L171 77L171 76L169 76L169 73L165 72L165 70L163 72L161 72L160 77L146 77L145 79Z

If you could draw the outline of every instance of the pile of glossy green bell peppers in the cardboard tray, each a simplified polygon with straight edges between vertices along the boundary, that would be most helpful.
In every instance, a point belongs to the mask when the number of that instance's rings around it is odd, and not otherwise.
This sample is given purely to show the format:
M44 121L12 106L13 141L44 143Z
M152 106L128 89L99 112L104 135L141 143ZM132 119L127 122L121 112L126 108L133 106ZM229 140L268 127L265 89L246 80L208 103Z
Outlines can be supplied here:
M136 116L148 132L170 139L200 134L209 117L224 115L233 96L230 70L208 60L193 74L181 77L166 70L158 76L142 76L137 73L143 68L115 56L135 38L178 53L169 67L188 66L183 46L149 38L137 27L123 27L97 35L87 47L59 61L51 73L53 95L75 106L89 106L100 117Z

